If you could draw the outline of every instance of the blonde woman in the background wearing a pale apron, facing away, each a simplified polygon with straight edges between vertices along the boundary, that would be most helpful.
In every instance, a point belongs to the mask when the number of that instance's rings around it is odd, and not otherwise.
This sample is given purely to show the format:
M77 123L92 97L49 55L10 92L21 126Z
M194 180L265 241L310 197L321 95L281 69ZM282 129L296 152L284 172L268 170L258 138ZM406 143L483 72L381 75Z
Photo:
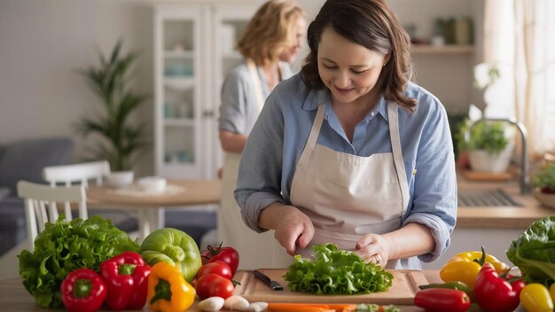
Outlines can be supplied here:
M238 40L244 61L223 82L218 129L225 160L218 240L238 250L239 269L279 263L274 254L280 249L276 239L270 232L260 235L246 227L233 191L246 138L270 92L293 74L289 63L301 49L306 27L305 12L298 4L284 0L263 4Z

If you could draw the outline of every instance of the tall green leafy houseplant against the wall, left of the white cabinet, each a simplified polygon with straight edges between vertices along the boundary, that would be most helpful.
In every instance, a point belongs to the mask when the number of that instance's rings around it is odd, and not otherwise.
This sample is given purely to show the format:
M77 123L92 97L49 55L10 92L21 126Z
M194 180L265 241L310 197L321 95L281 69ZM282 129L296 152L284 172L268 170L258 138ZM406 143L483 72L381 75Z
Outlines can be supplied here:
M121 41L116 43L109 58L101 52L100 64L79 70L98 95L105 112L98 116L82 116L75 128L82 136L97 134L102 137L96 147L90 148L90 160L108 160L113 171L129 170L132 158L148 142L145 127L132 125L129 115L137 110L145 94L129 90L129 69L137 54L121 53Z

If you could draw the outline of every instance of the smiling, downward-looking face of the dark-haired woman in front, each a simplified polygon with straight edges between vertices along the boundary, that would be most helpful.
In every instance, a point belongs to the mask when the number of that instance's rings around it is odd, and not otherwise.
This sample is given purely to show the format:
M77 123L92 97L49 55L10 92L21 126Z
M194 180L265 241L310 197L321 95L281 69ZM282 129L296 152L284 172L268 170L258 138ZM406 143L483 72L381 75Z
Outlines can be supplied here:
M387 56L352 43L326 27L318 44L318 71L332 98L350 103L376 85Z

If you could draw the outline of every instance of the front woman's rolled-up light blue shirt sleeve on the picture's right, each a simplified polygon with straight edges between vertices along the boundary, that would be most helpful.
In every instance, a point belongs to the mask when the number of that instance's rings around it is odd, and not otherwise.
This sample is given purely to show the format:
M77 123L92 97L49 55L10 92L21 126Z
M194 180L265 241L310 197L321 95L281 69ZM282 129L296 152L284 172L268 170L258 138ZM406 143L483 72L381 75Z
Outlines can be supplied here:
M442 105L432 108L418 144L410 214L403 220L403 225L417 222L430 229L435 249L418 256L424 262L436 260L447 249L457 221L457 175L449 122Z

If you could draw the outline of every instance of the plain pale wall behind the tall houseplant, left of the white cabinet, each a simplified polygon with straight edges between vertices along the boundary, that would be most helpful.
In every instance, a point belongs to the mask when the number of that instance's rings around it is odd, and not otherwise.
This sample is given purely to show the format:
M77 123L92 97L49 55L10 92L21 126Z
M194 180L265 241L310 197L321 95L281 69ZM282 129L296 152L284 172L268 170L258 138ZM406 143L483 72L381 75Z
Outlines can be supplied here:
M140 51L135 90L152 94L152 8L139 1L0 0L0 143L29 137L73 136L73 122L101 103L77 68L96 65L119 38ZM152 134L152 100L137 113ZM149 160L151 159L151 160ZM138 171L152 171L152 156Z

